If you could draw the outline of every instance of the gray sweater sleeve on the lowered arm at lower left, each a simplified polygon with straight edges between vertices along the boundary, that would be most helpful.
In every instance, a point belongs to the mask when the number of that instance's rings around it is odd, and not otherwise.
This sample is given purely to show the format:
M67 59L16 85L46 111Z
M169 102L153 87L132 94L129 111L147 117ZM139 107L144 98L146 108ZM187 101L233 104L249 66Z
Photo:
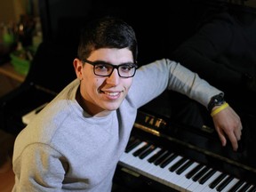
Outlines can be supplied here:
M26 156L26 157L22 157ZM15 160L13 192L61 191L68 164L60 153L45 144L31 144Z

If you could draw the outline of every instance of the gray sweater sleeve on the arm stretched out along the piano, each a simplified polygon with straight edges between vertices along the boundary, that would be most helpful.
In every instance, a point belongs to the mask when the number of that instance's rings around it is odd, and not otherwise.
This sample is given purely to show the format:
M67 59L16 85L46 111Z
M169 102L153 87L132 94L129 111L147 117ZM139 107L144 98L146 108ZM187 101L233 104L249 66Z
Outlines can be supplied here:
M165 89L180 92L205 107L213 95L220 93L220 90L180 63L163 59L138 69L129 97L140 108L164 92Z

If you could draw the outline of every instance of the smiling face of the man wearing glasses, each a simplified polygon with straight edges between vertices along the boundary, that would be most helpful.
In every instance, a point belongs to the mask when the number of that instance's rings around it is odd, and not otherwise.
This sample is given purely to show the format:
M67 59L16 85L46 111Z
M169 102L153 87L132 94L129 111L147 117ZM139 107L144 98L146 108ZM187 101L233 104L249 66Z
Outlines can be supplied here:
M132 52L127 49L102 48L92 52L90 61L102 60L113 65L133 62ZM76 76L81 80L79 104L92 116L104 116L121 105L132 84L132 77L118 76L115 68L111 76L96 76L93 66L74 60ZM79 93L79 92L78 92ZM79 94L78 94L79 95Z

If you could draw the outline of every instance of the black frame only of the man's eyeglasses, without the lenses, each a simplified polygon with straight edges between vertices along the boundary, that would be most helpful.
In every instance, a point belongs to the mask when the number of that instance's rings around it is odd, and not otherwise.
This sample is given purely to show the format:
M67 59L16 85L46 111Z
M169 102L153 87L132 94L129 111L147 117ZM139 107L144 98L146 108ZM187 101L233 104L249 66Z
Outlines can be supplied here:
M98 65L98 64L107 64L108 66L111 66L111 67L112 67L112 71L110 72L109 75L106 75L106 76L111 76L112 73L113 73L113 71L114 71L114 69L116 68L117 73L118 73L118 76L120 76L120 77L122 77L122 78L131 78L132 76L135 76L136 70L137 70L137 68L138 68L138 65L137 65L136 63L132 63L132 62L129 62L129 63L122 63L122 64L120 64L120 65L113 65L113 64L108 63L108 62L103 61L103 60L100 60L100 61L91 61L91 60L86 60L86 59L84 59L84 60L81 60L81 61L84 62L84 63L88 63L88 64L90 64L90 65L93 66L93 73L94 73L95 76L104 76L104 75L99 75L99 74L96 74L96 73L95 73L95 66ZM120 73L119 73L119 68L122 67L122 66L125 66L125 65L132 65L132 67L135 68L135 69L134 69L134 73L133 73L132 76L121 76L121 75L120 75Z

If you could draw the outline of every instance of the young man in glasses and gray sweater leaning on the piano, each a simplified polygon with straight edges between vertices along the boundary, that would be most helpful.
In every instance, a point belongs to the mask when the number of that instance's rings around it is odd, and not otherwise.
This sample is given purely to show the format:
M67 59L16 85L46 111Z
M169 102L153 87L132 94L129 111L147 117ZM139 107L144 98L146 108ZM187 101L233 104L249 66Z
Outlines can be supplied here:
M221 93L218 89L172 60L138 69L136 60L137 40L124 21L106 17L84 28L74 60L77 79L15 141L13 192L111 191L137 109L165 89L205 107L210 103L222 145L227 135L238 148L240 118L227 103L210 101Z

